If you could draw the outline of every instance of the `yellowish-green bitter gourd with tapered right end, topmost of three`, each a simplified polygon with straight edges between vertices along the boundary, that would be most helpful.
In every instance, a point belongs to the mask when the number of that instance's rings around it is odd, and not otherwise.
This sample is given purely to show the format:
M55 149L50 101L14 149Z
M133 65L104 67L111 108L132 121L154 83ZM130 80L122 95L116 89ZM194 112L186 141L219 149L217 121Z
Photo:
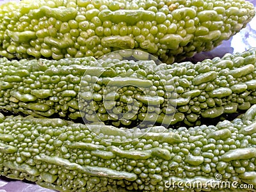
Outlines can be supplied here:
M11 2L0 6L0 55L60 60L142 49L173 63L220 45L254 15L244 0Z

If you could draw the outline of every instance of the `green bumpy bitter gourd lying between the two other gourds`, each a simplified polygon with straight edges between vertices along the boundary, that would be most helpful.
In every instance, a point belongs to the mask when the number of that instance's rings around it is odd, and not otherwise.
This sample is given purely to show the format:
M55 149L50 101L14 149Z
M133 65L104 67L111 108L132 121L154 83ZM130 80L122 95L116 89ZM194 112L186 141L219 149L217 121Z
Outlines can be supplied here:
M93 57L0 58L0 109L82 116L115 126L199 125L201 117L236 113L256 103L255 66L256 49L173 65Z

